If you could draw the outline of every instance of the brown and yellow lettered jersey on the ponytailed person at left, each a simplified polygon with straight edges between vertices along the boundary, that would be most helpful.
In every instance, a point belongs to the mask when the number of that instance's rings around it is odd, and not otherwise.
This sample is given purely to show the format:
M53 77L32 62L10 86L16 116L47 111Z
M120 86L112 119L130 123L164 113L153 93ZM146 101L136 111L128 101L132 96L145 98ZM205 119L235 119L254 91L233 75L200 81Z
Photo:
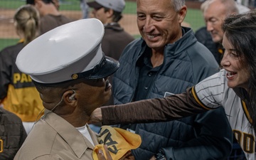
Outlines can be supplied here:
M18 70L15 61L24 47L22 41L0 52L0 100L4 109L18 115L23 122L36 121L43 102L31 78Z

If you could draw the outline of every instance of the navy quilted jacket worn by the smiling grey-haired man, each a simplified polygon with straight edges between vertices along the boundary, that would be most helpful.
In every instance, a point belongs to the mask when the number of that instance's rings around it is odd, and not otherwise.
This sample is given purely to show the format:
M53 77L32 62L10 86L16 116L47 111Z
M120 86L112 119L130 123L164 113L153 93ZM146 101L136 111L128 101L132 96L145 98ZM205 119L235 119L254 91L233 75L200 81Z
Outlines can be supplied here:
M115 104L133 101L136 87L141 85L137 63L146 48L140 38L124 49L113 79ZM165 46L164 63L147 98L184 92L216 72L213 55L198 43L191 28L183 28L183 37ZM142 145L132 151L137 160L149 160L161 148L166 159L177 160L223 159L232 149L233 133L222 108L172 122L137 124L136 133L142 137Z

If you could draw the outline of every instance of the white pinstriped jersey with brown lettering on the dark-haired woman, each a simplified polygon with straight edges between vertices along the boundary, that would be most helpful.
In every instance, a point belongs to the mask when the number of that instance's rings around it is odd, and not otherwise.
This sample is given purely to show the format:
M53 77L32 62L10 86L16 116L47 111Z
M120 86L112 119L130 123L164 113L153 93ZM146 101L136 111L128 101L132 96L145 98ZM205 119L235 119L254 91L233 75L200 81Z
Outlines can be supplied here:
M225 70L199 82L193 89L193 97L203 107L213 109L223 106L235 138L247 159L255 160L255 132L245 102L228 87Z

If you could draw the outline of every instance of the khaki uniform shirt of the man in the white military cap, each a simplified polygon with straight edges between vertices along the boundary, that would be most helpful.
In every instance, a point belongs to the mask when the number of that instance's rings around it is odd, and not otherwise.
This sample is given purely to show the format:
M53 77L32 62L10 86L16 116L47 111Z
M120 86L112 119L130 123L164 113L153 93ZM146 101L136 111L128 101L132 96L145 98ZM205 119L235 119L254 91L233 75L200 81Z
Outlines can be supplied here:
M14 160L92 159L94 146L89 140L62 117L47 112L28 134ZM92 141L98 144L95 132L88 126L87 129Z

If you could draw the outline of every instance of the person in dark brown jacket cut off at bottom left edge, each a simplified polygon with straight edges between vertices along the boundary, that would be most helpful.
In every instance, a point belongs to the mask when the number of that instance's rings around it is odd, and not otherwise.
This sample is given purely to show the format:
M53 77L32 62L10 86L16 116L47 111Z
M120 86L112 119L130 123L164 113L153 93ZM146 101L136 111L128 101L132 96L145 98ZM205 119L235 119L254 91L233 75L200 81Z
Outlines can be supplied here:
M0 105L0 160L13 160L27 134L21 119Z

